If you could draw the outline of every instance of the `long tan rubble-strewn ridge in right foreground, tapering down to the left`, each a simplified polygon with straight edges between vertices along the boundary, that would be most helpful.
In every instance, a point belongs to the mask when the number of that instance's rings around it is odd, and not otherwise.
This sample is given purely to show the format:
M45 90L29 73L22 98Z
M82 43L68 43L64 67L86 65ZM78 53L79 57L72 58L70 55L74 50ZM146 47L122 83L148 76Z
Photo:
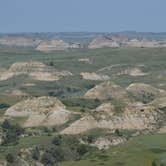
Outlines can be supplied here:
M153 106L140 106L132 104L124 108L121 114L112 114L112 111L96 111L93 115L87 115L74 122L64 131L63 134L78 134L94 128L105 129L137 129L154 130L165 116ZM97 117L97 118L96 118Z

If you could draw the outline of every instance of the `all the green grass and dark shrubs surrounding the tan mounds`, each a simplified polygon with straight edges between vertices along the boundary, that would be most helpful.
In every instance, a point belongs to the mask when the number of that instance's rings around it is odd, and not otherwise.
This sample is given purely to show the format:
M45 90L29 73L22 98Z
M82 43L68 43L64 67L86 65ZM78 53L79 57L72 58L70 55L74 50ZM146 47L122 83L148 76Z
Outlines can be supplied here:
M130 140L136 131L121 130L119 128L114 131L93 129L78 135L61 135L59 133L80 118L92 115L94 113L92 110L104 102L110 102L119 114L123 113L126 106L124 101L113 98L109 98L107 101L85 99L84 94L102 83L102 81L84 80L80 76L81 72L100 72L99 70L105 67L119 65L118 67L112 67L111 70L102 70L101 74L108 75L111 81L116 85L120 85L122 89L125 89L131 83L140 82L166 90L166 77L163 72L166 68L165 51L165 48L104 48L42 53L33 49L10 48L6 50L5 48L0 48L0 66L6 69L13 63L31 60L42 62L53 69L67 70L73 73L70 77L52 82L32 80L26 75L0 81L0 117L3 118L6 109L10 106L28 98L9 95L9 91L13 89L19 89L29 94L30 98L55 96L63 102L67 110L75 113L67 123L60 126L23 129L20 126L27 118L14 117L4 122L2 121L1 133L3 141L0 145L0 159L12 164L18 155L21 157L20 153L22 152L28 162L37 161L42 162L44 165L53 165L55 163L60 163L62 166L138 166L138 163L142 166L164 165L166 156L165 134L143 135ZM82 57L90 59L91 63L78 61ZM127 67L132 69L141 65L143 66L141 69L149 73L149 75L131 76L119 74ZM152 93L142 92L141 94L140 98L130 97L135 101L146 104L155 99ZM109 113L109 110L107 113ZM100 115L100 112L98 114ZM110 117L108 116L108 118ZM101 136L104 138L112 136L126 138L129 141L101 151L89 145L93 144Z

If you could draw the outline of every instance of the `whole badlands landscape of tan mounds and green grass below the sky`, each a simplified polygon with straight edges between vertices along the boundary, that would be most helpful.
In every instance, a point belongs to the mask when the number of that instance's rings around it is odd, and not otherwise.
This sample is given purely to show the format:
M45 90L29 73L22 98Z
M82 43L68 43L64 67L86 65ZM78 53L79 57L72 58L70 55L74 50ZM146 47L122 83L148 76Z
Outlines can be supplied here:
M0 37L0 165L165 159L164 38L47 35Z

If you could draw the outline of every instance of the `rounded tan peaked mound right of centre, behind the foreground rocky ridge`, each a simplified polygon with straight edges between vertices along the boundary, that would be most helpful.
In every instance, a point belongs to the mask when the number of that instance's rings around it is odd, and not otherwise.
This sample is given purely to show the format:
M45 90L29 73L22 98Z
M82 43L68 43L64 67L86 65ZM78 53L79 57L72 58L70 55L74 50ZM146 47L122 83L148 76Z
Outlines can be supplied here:
M111 81L103 82L94 88L90 89L85 95L85 98L90 99L118 99L118 100L129 100L128 94L125 89L112 83Z

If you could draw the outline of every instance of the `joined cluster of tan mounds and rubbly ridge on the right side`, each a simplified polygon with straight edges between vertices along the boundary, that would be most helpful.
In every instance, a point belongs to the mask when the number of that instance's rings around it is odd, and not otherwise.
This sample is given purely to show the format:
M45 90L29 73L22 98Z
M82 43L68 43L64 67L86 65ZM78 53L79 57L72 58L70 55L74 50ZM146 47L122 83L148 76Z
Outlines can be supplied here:
M137 89L140 87L142 89ZM129 96L134 94L140 96L143 94L153 95L149 103L143 104L137 98L130 100ZM104 95L103 95L104 94ZM107 100L89 115L72 123L68 128L62 131L63 134L79 134L95 128L115 129L136 129L154 131L165 126L166 92L154 88L147 84L131 84L127 90L111 82L104 82L85 94L85 98L98 98ZM146 97L146 95L144 96ZM161 97L159 99L155 99ZM118 112L119 105L114 104L112 99L123 101L124 104ZM140 98L139 98L140 99ZM152 102L151 102L152 101Z

